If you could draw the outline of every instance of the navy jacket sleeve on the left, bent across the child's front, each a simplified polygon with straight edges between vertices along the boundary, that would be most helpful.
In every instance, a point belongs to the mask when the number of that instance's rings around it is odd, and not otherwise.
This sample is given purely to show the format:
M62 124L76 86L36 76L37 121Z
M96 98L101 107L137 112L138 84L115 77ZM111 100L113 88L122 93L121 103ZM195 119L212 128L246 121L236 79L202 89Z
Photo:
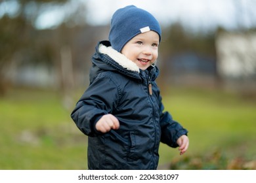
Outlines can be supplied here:
M117 84L110 76L99 74L77 102L71 117L77 127L88 136L101 133L95 124L104 114L111 114L119 98Z

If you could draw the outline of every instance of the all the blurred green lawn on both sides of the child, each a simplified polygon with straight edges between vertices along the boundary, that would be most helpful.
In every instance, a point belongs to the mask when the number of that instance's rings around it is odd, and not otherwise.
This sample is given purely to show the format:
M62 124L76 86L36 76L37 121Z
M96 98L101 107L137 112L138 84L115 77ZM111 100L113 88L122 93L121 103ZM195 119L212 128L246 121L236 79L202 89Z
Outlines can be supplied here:
M255 163L255 101L176 88L165 92L163 103L188 129L190 147L179 156L161 144L160 168L248 169L246 163ZM0 169L87 169L87 137L72 122L71 110L57 92L19 89L0 98Z

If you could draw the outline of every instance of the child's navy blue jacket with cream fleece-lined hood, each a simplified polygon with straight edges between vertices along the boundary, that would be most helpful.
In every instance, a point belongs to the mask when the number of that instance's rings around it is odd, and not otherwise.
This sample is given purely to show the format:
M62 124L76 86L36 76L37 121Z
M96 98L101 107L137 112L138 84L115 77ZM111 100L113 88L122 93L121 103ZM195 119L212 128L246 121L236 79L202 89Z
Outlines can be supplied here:
M163 112L156 85L158 67L142 71L110 42L96 46L89 88L72 112L77 127L88 135L89 169L157 169L160 141L175 148L188 131ZM152 95L149 92L152 84ZM104 114L119 120L119 129L96 131Z

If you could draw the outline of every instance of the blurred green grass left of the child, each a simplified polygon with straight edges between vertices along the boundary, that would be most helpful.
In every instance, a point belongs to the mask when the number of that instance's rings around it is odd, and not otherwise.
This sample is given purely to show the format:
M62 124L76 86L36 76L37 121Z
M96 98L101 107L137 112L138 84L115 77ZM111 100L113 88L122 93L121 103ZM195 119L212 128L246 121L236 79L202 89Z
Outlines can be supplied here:
M86 169L86 137L56 92L11 91L0 100L0 169Z

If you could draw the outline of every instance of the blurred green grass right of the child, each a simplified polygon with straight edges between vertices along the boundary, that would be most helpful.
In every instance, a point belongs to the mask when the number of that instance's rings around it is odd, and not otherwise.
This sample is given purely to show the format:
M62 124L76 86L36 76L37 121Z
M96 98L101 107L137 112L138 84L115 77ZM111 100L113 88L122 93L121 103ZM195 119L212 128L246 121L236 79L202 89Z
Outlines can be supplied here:
M185 161L184 159L192 161L191 159L198 156L199 159L204 159L216 153L225 157L226 166L236 158L242 158L244 163L256 159L256 148L253 145L256 142L255 101L245 100L236 93L213 90L174 89L170 95L164 97L166 110L188 129L190 148L180 157L177 150L161 145L160 164L173 159L173 164ZM221 159L218 162L221 164ZM203 166L201 168L204 169Z

